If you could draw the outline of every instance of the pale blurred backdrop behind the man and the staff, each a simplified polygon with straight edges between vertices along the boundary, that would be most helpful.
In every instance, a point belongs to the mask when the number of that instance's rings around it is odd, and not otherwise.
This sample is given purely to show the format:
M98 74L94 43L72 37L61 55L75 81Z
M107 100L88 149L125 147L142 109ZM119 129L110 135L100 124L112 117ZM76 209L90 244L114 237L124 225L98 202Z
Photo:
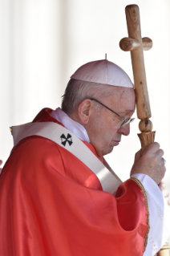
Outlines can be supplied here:
M124 8L140 6L142 37L153 47L144 52L152 123L167 161L170 189L170 2L169 0L0 0L0 159L13 146L9 127L24 124L45 107L57 108L70 76L84 63L107 59L132 76L129 52L119 49L127 37ZM136 116L136 115L135 115ZM139 120L130 136L107 156L115 173L129 177ZM29 157L29 156L28 156Z

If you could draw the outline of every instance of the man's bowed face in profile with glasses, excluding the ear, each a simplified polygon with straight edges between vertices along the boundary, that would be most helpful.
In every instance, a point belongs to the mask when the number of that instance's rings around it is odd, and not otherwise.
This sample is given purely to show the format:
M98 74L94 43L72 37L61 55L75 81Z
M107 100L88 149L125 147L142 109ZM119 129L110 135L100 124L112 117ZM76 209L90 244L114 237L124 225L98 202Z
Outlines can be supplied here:
M96 99L111 108L119 116L129 118L135 111L136 96L132 88L113 87L111 95L107 98ZM98 104L95 103L94 104ZM123 120L107 108L93 108L91 118L86 125L91 144L98 156L110 153L121 140L121 136L127 136L130 132L130 124L120 128Z

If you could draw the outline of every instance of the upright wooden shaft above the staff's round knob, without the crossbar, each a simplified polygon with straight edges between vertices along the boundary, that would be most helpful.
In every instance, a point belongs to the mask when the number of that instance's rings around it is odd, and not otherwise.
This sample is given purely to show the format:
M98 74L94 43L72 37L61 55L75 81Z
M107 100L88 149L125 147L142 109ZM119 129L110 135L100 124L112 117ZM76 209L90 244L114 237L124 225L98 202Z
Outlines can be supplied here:
M140 42L140 47L136 51L131 51L132 69L136 90L137 116L140 120L150 118L151 108L148 97L147 79L144 67L143 43L140 31L140 11L136 5L126 6L127 31L130 39Z

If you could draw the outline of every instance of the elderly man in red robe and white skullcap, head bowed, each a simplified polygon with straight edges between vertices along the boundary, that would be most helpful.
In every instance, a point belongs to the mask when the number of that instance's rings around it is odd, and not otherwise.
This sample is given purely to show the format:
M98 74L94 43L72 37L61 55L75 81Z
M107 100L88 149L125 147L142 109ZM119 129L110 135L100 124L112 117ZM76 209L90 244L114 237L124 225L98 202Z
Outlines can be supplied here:
M135 104L127 74L104 59L75 71L62 109L42 109L32 123L11 128L14 148L0 178L0 255L153 255L150 228L160 249L161 221L156 226L148 195L165 207L157 186L163 150L153 143L137 152L122 184L103 158L129 134Z

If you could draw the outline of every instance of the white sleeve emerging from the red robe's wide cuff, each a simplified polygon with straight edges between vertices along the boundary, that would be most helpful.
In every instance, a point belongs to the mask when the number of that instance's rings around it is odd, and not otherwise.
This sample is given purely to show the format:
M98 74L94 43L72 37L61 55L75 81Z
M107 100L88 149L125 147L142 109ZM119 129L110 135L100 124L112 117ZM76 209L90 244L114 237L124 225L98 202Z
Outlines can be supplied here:
M148 197L150 231L144 256L153 256L164 246L170 236L170 209L158 185L151 177L142 173L133 174L132 177L142 182Z

